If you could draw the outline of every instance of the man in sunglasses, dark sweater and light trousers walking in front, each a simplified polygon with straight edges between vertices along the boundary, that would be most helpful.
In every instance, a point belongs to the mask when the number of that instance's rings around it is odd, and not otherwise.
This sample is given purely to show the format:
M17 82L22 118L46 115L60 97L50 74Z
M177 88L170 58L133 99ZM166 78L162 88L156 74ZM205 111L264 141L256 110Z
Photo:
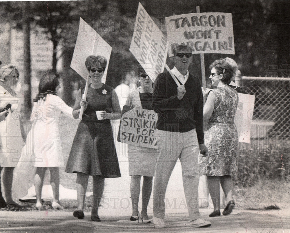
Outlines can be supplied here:
M171 70L180 85L168 71L155 80L152 107L158 113L157 144L160 153L155 166L153 191L153 223L155 228L166 228L165 192L172 170L180 159L186 204L190 225L208 227L198 210L198 153L207 156L203 133L203 96L200 81L189 74L192 50L178 45L173 50L175 67Z

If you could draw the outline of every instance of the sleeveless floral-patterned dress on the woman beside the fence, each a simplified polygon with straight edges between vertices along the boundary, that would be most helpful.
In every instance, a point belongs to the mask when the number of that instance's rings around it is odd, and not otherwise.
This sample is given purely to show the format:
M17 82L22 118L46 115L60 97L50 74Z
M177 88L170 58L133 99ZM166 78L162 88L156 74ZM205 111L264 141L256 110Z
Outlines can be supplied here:
M209 123L204 132L204 143L209 156L199 155L201 175L233 175L237 171L236 152L238 132L234 124L238 106L238 93L229 86L212 90L217 100Z

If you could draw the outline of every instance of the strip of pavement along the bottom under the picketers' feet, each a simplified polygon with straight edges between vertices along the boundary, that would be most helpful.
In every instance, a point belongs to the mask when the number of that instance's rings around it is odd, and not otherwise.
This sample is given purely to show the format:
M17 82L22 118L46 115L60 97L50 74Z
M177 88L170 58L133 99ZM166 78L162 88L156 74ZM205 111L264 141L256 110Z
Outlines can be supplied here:
M200 209L204 219L211 221L209 228L188 226L188 214L166 214L168 228L156 229L152 223L142 224L129 221L128 216L115 212L103 212L101 222L90 221L90 213L85 219L73 217L65 211L0 211L0 232L290 232L289 210L242 210L235 209L229 216L208 217L211 209ZM152 217L149 214L149 217Z

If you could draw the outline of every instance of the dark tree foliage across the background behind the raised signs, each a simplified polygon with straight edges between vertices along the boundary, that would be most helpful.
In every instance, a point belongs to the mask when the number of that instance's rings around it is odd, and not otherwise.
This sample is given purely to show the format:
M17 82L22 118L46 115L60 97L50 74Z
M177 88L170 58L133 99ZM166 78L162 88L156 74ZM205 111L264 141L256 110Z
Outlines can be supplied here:
M129 52L133 35L137 0L107 1L48 1L31 2L31 20L33 25L40 25L50 33L53 42L52 70L60 56L57 48L60 45L64 60L64 98L71 104L70 82L82 79L70 68L70 60L77 36L79 17L81 16L112 46L108 66L107 83L117 86L122 79L122 71L137 65L134 56ZM148 0L141 1L155 23L165 32L164 18L173 14L196 12L230 12L233 17L235 55L205 54L207 67L218 58L229 56L235 59L244 76L264 76L269 65L290 63L289 58L289 6L286 0ZM22 25L22 10L19 2L2 2L0 16L3 20L13 20L17 26ZM191 73L201 76L200 56L193 56ZM168 65L173 65L167 60ZM67 85L68 84L68 85Z

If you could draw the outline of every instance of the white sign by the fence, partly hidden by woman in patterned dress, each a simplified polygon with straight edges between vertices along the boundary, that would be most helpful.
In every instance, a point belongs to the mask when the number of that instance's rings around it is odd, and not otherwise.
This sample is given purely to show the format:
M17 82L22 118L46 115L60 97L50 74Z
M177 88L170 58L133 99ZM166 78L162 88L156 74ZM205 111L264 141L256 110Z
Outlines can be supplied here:
M254 111L255 96L238 93L239 103L235 115L235 125L237 126L239 142L250 143L251 121Z

